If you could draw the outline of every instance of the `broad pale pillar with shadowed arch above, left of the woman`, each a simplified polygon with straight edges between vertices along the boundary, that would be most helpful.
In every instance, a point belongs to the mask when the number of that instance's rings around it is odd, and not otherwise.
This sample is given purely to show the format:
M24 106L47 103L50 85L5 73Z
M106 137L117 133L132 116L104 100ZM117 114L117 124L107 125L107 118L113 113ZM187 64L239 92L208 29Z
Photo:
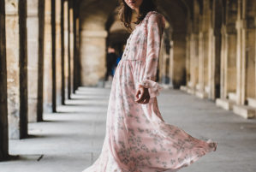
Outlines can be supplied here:
M82 1L80 3L81 85L98 86L104 80L108 32L106 24L116 1ZM104 10L102 10L104 9Z

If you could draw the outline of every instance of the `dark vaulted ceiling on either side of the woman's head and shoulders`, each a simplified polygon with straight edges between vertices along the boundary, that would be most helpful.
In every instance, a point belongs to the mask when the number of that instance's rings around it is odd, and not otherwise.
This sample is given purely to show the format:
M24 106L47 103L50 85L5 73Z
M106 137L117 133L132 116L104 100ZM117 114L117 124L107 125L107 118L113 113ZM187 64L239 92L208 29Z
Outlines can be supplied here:
M195 0L201 7L202 0ZM162 13L171 27L176 32L186 32L187 20L193 15L193 0L156 0L159 12ZM80 0L81 22L91 23L84 26L94 28L101 25L102 28L110 25L110 17L118 7L118 0ZM200 8L201 9L201 8Z

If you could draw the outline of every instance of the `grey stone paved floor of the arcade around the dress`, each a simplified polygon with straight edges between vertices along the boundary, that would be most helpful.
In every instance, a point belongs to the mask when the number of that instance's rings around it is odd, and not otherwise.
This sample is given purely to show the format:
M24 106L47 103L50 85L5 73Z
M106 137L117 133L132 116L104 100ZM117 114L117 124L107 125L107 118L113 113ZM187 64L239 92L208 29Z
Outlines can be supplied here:
M101 150L109 95L110 88L81 87L59 113L29 124L29 139L10 141L10 153L20 157L0 163L0 172L81 172ZM166 122L218 142L217 151L181 172L256 171L256 120L177 90L164 90L158 104Z

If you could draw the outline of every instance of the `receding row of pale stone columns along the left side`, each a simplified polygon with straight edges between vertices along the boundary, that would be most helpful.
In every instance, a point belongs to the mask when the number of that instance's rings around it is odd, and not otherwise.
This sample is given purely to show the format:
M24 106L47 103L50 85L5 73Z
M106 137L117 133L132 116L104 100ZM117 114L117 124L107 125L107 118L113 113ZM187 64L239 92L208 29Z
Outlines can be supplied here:
M0 161L80 86L78 1L0 2ZM75 66L75 67L74 67Z

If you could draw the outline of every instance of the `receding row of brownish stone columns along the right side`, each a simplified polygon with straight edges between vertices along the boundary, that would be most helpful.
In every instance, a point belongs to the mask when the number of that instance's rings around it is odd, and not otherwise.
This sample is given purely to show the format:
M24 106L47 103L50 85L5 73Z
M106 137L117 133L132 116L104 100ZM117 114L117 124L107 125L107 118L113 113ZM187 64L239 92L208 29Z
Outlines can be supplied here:
M256 2L193 1L188 19L186 85L245 118L256 112ZM179 67L178 67L179 68Z

